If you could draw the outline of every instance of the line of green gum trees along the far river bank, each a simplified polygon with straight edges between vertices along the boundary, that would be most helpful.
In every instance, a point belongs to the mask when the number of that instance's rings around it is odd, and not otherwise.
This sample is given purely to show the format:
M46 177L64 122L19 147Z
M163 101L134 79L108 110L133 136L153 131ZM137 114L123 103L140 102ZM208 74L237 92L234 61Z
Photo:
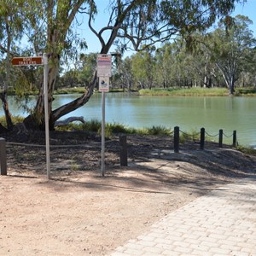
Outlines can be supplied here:
M151 46L124 59L115 55L112 87L124 90L221 87L230 94L235 93L235 85L255 88L256 41L249 30L252 21L237 15L232 25L225 22L219 22L211 33L194 33L189 45L183 38L177 38L173 43L160 48ZM89 84L96 69L96 55L82 55L77 68L61 76L58 88Z

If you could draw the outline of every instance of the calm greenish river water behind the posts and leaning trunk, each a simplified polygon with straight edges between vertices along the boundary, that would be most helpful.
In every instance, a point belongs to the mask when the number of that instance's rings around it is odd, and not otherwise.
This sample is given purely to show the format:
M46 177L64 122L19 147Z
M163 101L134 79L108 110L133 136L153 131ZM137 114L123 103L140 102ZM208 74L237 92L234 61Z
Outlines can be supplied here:
M53 108L71 102L78 95L57 95ZM30 104L33 104L32 99ZM24 115L14 98L9 97L9 108L14 115ZM256 97L229 96L137 96L134 94L106 93L106 122L143 128L179 126L186 132L200 131L204 127L209 135L219 129L229 137L237 132L238 143L256 145ZM0 111L0 116L3 110ZM102 96L96 94L84 107L68 116L84 116L85 120L102 119ZM212 137L218 141L218 137ZM230 139L224 137L224 143Z

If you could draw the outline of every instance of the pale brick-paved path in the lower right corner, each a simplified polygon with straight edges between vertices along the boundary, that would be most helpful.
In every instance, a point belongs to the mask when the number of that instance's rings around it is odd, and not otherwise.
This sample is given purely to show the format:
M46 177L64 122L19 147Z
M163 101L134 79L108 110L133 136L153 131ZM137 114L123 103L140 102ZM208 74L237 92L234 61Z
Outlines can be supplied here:
M256 177L168 214L111 255L256 255Z

